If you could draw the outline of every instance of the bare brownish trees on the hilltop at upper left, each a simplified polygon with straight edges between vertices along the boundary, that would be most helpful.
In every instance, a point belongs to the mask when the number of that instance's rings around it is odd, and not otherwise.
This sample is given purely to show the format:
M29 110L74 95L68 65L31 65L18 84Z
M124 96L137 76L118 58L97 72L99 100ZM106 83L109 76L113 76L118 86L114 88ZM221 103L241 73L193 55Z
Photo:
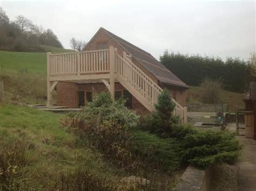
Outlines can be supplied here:
M39 45L63 47L51 29L45 30L22 15L10 21L0 7L0 50L44 52Z

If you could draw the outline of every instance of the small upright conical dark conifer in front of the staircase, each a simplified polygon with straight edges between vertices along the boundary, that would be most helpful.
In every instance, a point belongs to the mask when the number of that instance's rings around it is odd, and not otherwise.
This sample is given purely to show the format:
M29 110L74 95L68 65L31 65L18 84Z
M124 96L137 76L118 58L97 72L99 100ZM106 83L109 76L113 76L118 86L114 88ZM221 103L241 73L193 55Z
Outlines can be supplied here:
M172 115L175 104L167 89L164 89L158 97L156 111L145 116L142 126L147 131L168 137L171 131L170 126L178 123L178 116Z

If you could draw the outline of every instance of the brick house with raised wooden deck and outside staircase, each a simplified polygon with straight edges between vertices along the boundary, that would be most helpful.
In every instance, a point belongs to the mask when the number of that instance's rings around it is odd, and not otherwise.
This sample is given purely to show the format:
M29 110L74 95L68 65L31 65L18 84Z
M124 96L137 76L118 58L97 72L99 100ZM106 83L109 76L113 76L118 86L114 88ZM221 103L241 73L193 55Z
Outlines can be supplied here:
M186 122L188 86L150 53L100 28L82 52L48 53L48 106L57 90L57 106L78 108L92 99L93 91L123 96L138 113L153 111L163 88L176 103L174 114Z

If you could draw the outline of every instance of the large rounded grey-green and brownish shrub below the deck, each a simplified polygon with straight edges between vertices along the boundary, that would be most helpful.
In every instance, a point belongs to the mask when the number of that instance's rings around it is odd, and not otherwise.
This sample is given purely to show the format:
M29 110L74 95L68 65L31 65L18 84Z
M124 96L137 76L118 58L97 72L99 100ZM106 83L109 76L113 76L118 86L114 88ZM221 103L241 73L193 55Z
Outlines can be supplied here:
M75 132L85 144L104 153L107 158L124 165L131 158L130 128L137 125L138 116L127 107L125 100L113 101L107 92L94 93L75 117L62 119L62 124Z

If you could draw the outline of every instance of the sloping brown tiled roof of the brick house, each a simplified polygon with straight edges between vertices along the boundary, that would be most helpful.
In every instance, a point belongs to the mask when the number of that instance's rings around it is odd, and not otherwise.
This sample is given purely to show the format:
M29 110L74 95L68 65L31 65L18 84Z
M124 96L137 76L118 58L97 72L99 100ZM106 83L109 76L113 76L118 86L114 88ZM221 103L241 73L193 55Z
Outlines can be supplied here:
M150 53L140 49L137 46L127 42L126 40L114 35L112 32L104 30L114 41L116 41L123 49L132 55L147 71L153 74L160 82L173 86L179 86L188 88L188 86L175 76L170 70L168 70L163 64L161 64Z

